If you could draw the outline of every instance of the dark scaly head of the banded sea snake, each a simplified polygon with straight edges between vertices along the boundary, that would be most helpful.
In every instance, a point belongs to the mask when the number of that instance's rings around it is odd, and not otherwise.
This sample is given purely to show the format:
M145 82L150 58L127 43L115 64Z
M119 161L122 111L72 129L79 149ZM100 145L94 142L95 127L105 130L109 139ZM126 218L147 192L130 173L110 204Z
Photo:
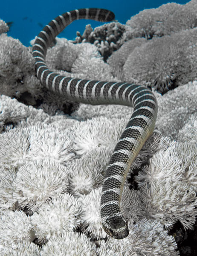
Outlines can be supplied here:
M123 239L129 234L127 221L122 216L109 217L102 224L104 231L115 239Z

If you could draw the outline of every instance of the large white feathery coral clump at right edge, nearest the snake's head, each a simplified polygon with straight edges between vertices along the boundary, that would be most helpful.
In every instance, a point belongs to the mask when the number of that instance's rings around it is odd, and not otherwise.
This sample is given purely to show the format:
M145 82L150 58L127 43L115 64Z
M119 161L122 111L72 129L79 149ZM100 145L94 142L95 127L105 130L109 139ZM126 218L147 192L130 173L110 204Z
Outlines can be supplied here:
M146 216L156 219L168 229L178 220L185 229L195 223L197 188L188 185L191 181L186 177L189 176L188 169L194 170L197 166L197 154L195 146L190 147L192 149L188 151L187 144L182 147L172 142L168 151L154 154L149 165L142 167L135 177Z

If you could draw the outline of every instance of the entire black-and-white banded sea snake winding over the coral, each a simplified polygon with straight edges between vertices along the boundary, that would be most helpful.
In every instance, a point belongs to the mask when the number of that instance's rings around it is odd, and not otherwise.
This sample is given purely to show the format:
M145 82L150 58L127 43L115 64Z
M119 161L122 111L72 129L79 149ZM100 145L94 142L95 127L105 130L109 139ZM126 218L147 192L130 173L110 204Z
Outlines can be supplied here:
M122 190L130 165L153 133L157 102L146 87L127 82L107 82L60 76L45 62L47 48L54 38L73 20L114 20L113 12L105 9L78 9L65 12L49 22L33 45L35 70L47 89L66 99L92 105L119 104L134 107L132 116L117 143L107 167L101 194L101 221L105 232L115 239L128 236L127 221L120 210ZM116 124L114 124L116 125Z

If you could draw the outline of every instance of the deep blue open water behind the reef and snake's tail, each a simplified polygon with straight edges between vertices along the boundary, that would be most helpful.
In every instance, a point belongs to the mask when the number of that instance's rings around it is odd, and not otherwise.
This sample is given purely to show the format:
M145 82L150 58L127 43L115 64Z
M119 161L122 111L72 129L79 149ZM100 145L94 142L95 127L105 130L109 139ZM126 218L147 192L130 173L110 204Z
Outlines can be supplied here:
M176 0L185 4L189 0ZM0 19L13 22L8 35L18 38L25 46L35 38L43 26L58 15L73 9L98 7L109 9L116 15L116 20L125 24L131 16L143 9L156 8L169 0L2 0L0 4ZM94 28L102 23L93 20L79 20L73 22L61 34L69 40L75 39L76 31L84 32L85 25Z

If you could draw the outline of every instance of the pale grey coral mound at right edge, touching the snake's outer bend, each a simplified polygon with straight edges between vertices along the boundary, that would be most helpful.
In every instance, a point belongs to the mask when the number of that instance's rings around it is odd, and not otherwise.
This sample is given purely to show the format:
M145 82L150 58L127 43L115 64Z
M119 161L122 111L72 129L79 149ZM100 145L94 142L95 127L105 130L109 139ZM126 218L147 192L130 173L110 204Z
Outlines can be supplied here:
M187 124L191 115L197 112L197 106L194 104L196 95L197 81L194 81L157 99L159 107L156 128L163 136L168 136L171 140L178 139L179 131ZM192 134L194 136L193 132Z

